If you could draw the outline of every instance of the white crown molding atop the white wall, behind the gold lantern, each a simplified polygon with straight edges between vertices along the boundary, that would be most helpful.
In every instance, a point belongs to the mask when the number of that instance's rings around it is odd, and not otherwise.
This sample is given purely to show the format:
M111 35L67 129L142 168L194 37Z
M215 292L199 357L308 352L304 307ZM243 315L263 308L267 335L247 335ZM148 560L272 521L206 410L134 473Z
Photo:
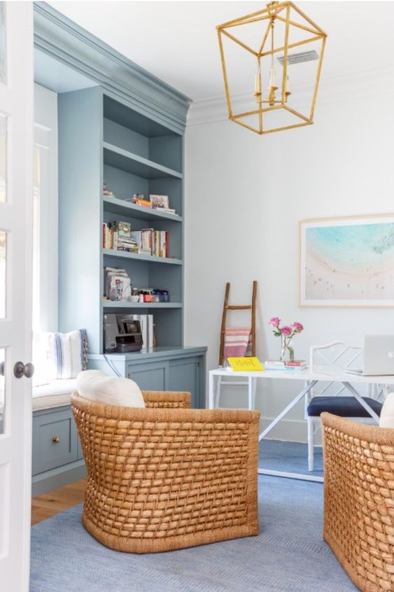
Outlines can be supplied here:
M309 108L314 83L303 83L291 87L297 101L291 103L295 108ZM371 70L349 73L348 75L330 76L321 79L316 108L325 104L339 103L377 97L381 94L394 93L394 65L381 66ZM292 97L292 98L293 98ZM234 113L244 113L255 108L251 94L232 95ZM188 111L187 126L204 125L228 120L225 97L194 101Z

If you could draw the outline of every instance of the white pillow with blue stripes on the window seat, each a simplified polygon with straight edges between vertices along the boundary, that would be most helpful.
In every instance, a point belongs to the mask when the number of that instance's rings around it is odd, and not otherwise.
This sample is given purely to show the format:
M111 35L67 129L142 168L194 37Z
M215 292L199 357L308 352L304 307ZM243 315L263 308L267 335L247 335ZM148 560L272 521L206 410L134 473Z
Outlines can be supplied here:
M41 372L48 380L74 379L87 367L86 329L41 333Z

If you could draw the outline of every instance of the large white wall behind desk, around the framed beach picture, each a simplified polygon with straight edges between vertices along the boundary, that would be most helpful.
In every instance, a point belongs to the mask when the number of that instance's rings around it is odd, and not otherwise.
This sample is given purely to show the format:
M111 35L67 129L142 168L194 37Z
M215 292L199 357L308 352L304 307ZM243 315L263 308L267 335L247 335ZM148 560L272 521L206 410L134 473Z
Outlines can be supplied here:
M226 281L232 302L240 304L251 299L258 280L262 360L279 356L279 339L267 325L272 316L304 324L295 337L297 358L307 358L311 344L362 344L366 332L393 332L393 309L297 304L299 220L394 212L392 105L392 94L325 104L315 125L268 136L227 121L188 127L185 344L209 347L208 369L218 364ZM265 418L295 393L288 383L267 382L257 399ZM223 405L236 406L235 397L224 397ZM272 437L306 439L303 416L301 403Z

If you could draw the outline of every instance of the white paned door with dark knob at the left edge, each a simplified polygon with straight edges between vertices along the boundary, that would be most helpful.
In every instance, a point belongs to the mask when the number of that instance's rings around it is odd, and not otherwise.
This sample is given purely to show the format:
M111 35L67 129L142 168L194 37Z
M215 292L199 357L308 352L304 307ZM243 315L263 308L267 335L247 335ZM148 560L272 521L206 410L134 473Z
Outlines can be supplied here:
M33 76L33 3L0 2L0 589L4 592L29 589L32 368L26 362L31 358Z

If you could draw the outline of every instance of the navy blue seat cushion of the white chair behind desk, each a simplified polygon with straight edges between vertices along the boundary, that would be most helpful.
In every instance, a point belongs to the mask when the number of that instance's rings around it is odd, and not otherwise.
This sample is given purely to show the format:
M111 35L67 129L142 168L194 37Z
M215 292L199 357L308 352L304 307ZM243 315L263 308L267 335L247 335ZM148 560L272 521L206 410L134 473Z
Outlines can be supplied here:
M380 416L382 404L370 397L363 399ZM323 411L339 417L370 417L355 397L313 397L307 408L308 415L318 417Z

